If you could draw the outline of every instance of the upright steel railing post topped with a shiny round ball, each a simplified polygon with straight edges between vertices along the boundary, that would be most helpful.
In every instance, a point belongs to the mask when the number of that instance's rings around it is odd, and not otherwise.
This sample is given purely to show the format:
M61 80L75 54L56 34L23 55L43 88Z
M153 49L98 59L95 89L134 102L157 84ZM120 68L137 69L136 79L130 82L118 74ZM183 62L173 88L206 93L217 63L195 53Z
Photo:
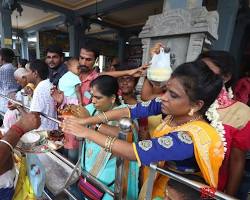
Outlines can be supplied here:
M131 131L132 122L129 118L122 118L119 121L120 132L118 138L126 140L127 134ZM121 157L116 158L116 176L115 176L115 199L122 199L122 178L124 173L124 159Z

